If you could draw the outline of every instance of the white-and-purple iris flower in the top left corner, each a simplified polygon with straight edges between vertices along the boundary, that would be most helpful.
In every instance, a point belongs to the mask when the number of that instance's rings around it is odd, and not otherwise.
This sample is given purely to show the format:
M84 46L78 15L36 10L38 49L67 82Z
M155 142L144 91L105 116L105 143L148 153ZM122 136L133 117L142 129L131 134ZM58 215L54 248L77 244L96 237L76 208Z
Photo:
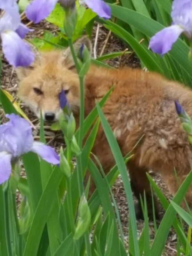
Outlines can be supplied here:
M30 47L21 38L30 30L20 23L16 0L1 0L0 36L7 61L14 67L28 66L34 60Z

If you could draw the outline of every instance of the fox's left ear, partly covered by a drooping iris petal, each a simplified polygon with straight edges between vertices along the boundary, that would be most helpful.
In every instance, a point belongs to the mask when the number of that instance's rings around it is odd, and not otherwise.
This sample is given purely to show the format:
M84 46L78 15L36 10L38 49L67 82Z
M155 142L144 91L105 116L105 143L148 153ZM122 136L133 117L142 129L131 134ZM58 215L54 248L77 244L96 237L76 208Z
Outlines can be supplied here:
M27 77L30 74L31 70L34 69L34 66L38 65L38 63L39 63L40 53L37 51L37 49L35 47L33 47L32 51L35 54L34 62L31 63L31 65L28 66L28 67L18 67L18 68L16 68L16 73L17 73L17 76L18 76L20 81L23 80L25 77Z

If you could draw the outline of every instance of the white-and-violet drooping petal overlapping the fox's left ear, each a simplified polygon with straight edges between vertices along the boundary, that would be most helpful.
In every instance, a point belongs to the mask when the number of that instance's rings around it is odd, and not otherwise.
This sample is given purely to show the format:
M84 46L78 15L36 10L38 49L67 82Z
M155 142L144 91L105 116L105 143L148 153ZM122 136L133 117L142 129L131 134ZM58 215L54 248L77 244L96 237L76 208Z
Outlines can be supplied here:
M5 58L11 65L26 67L34 61L34 53L17 33L11 30L5 31L1 34L1 37Z

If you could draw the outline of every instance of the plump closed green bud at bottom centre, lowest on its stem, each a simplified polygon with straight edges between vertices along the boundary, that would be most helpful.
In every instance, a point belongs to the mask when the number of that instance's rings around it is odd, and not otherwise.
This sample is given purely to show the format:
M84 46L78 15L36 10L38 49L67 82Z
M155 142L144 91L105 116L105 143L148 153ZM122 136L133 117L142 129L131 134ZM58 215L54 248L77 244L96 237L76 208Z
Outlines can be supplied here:
M78 212L79 219L77 221L74 239L79 239L83 236L91 223L91 212L84 194L81 196Z

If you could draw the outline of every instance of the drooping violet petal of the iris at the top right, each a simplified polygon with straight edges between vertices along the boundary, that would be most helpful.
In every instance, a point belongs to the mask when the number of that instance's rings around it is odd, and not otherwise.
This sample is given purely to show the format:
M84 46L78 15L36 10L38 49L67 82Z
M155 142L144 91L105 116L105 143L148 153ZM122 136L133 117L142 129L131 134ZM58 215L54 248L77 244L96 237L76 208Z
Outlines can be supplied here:
M153 52L164 55L171 50L172 44L175 43L183 31L184 29L178 25L164 28L151 38L149 48L151 48Z

